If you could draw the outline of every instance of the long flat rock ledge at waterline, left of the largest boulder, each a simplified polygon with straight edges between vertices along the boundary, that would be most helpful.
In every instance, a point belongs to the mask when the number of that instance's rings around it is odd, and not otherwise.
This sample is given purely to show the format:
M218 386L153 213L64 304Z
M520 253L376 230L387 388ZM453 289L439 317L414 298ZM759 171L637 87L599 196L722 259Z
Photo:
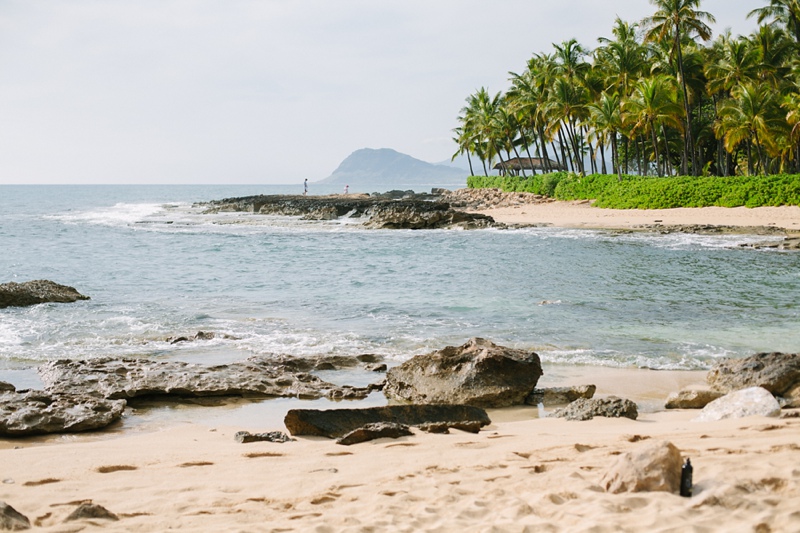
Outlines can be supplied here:
M361 399L373 387L339 386L297 370L308 361L252 357L225 365L179 361L90 359L51 361L39 368L50 392L83 391L101 398L207 396Z

